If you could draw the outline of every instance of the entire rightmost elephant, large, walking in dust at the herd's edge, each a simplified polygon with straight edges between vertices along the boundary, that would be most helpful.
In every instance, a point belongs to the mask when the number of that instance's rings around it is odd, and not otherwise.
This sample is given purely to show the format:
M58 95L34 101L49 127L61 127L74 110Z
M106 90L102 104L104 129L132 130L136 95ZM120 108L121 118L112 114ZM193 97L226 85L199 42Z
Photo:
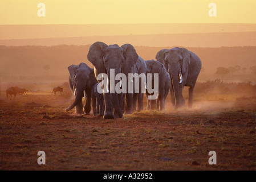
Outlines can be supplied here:
M192 108L194 86L202 67L200 58L186 48L174 47L161 49L156 54L156 60L165 65L171 77L170 94L174 109L185 105L182 96L184 86L189 86L188 107Z

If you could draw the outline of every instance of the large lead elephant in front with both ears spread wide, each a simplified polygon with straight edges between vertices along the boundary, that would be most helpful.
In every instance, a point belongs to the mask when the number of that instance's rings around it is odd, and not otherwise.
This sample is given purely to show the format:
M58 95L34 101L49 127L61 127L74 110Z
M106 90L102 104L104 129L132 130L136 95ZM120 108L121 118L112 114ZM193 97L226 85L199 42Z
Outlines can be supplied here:
M131 44L124 44L119 47L117 44L107 45L103 42L95 42L91 45L88 55L88 60L94 65L95 77L101 73L105 73L110 78L110 70L115 71L115 77L119 73L124 73L127 77L128 73L133 73L133 66L136 64L139 56L135 48ZM117 85L119 80L111 83L111 79L108 85ZM128 91L128 86L127 86ZM105 102L105 119L122 118L123 117L123 97L124 94L109 92L103 92ZM133 93L125 93L126 97L126 109L124 114L132 113L132 100Z

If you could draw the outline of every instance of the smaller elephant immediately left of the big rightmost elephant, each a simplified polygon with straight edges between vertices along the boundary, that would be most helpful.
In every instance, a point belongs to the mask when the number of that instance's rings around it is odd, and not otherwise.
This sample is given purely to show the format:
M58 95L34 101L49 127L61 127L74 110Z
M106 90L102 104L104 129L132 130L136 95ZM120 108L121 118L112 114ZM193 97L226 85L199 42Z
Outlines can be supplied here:
M166 97L168 96L169 89L170 89L170 76L168 72L166 72L164 65L161 64L159 61L147 60L145 61L145 63L147 65L147 85L148 85L148 73L152 74L152 88L153 88L154 82L156 81L154 79L154 74L159 75L159 80L157 80L159 82L159 84L157 85L159 90L159 93L157 94L157 99L155 100L148 99L147 109L148 110L155 109L160 111L165 110L165 100L166 100ZM149 96L148 88L147 88L146 94L148 97Z

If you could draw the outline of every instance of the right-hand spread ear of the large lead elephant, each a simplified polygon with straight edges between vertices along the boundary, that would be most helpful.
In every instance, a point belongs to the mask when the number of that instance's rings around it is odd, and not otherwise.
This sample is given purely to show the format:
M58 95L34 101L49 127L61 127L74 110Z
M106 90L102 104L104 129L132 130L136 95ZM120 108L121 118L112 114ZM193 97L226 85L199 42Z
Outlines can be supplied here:
M128 68L128 67L133 67L133 65L136 64L137 59L138 59L138 55L137 52L135 50L135 48L131 45L131 44L124 44L123 46L121 46L121 49L123 49L123 53L124 53L124 68Z

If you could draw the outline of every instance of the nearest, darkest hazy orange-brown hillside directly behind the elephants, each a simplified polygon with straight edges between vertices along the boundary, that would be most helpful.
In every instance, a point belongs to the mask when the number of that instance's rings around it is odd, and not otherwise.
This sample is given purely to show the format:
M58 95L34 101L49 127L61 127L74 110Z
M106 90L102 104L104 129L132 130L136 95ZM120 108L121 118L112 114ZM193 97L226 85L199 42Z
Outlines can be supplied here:
M71 64L87 63L86 46L0 46L0 75L4 77L46 75L44 65L49 65L49 75L68 75L67 67ZM145 60L155 59L156 53L162 48L135 46L137 53ZM256 65L256 47L221 47L201 48L186 47L196 53L202 60L205 73L216 72L217 67L239 65L241 68Z

